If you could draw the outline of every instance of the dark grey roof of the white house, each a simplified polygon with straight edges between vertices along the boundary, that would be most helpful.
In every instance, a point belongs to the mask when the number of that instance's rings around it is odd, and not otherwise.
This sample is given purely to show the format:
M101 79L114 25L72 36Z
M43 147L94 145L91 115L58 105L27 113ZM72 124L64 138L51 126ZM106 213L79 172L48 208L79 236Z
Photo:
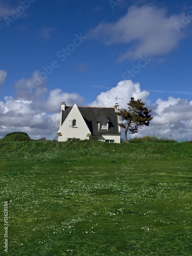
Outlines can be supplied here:
M66 106L66 110L62 112L62 123L65 121L72 108L72 106ZM78 109L84 118L84 121L87 123L92 135L99 136L102 134L119 134L118 119L117 114L115 113L115 108L92 108L78 106ZM100 118L104 120L100 120ZM99 121L109 122L109 130L106 131L101 129L98 131Z

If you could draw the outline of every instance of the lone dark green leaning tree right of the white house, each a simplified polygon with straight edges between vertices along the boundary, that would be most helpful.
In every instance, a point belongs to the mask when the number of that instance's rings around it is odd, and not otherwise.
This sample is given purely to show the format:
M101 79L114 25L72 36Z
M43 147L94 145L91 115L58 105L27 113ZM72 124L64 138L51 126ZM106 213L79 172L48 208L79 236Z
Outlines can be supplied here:
M138 128L143 125L148 126L150 121L153 119L150 112L145 106L145 103L141 102L141 99L135 100L134 97L131 97L129 103L127 103L128 109L121 109L118 112L118 115L122 117L122 121L125 122L119 123L119 126L125 129L125 140L127 140L127 132L129 134L138 133Z

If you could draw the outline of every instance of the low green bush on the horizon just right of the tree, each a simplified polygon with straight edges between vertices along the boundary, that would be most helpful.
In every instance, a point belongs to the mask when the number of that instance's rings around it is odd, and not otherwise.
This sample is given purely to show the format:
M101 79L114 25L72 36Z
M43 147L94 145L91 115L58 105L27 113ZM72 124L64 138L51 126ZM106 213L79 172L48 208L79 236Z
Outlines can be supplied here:
M173 142L177 143L175 139L168 139L168 138L159 138L156 136L144 136L144 137L135 137L133 139L129 139L129 143L142 143L142 142Z

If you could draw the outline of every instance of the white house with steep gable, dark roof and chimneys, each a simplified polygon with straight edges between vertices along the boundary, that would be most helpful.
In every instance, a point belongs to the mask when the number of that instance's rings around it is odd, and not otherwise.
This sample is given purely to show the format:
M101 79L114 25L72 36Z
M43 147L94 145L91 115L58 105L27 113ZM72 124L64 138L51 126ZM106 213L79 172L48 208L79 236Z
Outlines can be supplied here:
M101 140L120 143L118 104L115 108L66 106L61 103L58 141Z

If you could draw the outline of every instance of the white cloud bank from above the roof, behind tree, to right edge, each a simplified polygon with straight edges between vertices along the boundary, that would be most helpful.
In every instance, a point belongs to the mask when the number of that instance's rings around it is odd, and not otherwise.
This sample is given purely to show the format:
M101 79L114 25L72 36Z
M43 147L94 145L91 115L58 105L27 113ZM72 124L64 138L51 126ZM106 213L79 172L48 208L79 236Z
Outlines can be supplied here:
M129 135L130 137L155 135L178 140L192 139L192 101L168 97L167 100L157 99L155 104L150 104L147 100L149 95L149 92L141 90L139 83L123 80L116 87L100 93L90 106L113 107L115 98L118 96L123 98L118 100L119 108L127 109L127 103L131 97L136 100L142 99L147 108L152 110L153 119L150 126L144 126L139 129L138 134Z

